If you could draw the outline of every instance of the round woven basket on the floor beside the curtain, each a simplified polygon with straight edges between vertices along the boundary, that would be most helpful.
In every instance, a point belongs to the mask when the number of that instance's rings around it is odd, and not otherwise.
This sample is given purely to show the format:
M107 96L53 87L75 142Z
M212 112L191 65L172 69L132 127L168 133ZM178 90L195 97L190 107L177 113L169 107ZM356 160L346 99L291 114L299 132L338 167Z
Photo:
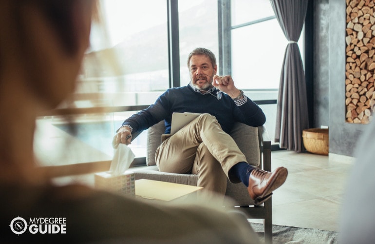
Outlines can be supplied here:
M303 145L311 153L328 155L329 134L328 129L311 128L302 131Z

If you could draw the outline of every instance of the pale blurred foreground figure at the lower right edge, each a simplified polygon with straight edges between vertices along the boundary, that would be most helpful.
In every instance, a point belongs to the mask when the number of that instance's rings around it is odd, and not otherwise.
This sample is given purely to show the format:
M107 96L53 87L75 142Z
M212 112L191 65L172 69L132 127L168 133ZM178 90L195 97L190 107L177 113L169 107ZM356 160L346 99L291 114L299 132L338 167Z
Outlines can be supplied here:
M375 121L365 126L342 201L340 244L375 243Z

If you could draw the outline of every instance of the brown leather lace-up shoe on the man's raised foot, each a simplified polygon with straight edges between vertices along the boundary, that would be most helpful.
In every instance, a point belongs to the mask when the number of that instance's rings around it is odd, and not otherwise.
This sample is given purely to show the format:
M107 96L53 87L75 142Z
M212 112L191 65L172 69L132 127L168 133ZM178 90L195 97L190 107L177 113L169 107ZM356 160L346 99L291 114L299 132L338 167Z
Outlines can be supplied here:
M247 191L255 205L268 200L272 192L285 182L287 176L288 170L284 167L279 167L274 172L254 168L250 173Z

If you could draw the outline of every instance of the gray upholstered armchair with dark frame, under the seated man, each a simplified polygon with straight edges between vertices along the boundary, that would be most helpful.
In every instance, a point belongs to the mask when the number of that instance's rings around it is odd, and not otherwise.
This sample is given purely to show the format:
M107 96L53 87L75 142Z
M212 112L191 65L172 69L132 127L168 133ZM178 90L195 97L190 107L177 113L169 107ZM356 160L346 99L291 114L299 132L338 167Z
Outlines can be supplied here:
M156 148L161 143L161 135L165 131L164 121L161 121L148 130L146 163L148 167L136 170L135 180L149 179L188 185L197 185L197 175L175 174L160 172L155 163ZM243 123L236 123L230 133L248 163L264 170L271 171L271 141L265 126L251 127ZM247 188L242 183L230 183L226 186L225 198L234 201L234 206L244 211L249 219L263 219L264 237L266 243L272 243L272 198L262 205L254 205Z

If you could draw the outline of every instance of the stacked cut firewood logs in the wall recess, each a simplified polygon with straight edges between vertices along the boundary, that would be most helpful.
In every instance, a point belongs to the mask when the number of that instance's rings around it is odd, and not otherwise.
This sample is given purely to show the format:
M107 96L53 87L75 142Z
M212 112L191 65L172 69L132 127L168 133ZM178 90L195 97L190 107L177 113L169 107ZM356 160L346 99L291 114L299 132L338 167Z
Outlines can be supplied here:
M346 121L369 123L375 105L375 0L346 0Z

